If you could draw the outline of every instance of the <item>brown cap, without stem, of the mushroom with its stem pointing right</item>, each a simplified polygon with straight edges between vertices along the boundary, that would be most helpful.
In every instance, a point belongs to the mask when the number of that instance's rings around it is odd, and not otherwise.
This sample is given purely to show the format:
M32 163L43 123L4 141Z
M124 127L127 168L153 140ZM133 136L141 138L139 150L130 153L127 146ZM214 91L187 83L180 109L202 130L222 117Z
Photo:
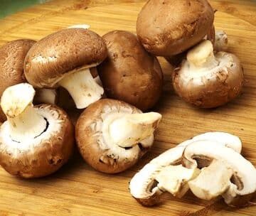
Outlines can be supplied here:
M114 99L100 99L82 112L75 126L78 149L87 163L97 171L119 173L137 163L149 148L139 144L130 148L109 146L103 137L102 125L108 114L142 113L136 107ZM153 143L154 138L147 142ZM150 146L149 144L149 146Z

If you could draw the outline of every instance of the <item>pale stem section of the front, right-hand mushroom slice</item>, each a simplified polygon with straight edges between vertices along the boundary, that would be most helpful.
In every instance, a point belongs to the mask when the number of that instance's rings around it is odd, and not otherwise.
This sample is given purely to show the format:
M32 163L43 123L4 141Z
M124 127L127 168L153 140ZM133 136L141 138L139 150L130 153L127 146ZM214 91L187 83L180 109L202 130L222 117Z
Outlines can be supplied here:
M225 163L213 160L210 166L202 168L198 177L189 181L188 185L196 197L212 200L228 190L232 175L233 170Z

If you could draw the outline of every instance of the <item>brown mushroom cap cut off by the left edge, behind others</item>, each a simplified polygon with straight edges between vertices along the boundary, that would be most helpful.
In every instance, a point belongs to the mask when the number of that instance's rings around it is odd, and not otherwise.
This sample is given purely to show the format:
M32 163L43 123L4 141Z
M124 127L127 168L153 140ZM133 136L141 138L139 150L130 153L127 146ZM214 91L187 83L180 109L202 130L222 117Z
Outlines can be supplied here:
M0 96L11 85L26 82L23 64L26 54L36 41L21 39L6 43L0 48ZM0 107L0 121L6 116Z

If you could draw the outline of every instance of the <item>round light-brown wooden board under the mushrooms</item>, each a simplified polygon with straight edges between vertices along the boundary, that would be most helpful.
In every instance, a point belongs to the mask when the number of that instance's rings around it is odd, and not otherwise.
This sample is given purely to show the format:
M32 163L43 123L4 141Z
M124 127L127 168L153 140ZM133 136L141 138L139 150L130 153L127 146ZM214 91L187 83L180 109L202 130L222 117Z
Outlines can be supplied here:
M119 29L135 33L137 13L145 1L50 1L0 20L0 45L18 38L40 39L76 23L89 23L100 35ZM229 51L245 69L242 95L218 109L196 109L171 88L171 67L164 70L164 93L154 110L163 114L151 152L129 171L106 175L93 170L75 153L69 163L46 178L22 180L0 168L0 215L256 215L256 206L232 209L223 202L204 202L189 194L179 200L164 195L157 207L142 207L128 185L151 158L206 131L240 136L242 154L256 166L256 1L210 1L218 12L215 26L229 37ZM193 212L196 212L193 214Z

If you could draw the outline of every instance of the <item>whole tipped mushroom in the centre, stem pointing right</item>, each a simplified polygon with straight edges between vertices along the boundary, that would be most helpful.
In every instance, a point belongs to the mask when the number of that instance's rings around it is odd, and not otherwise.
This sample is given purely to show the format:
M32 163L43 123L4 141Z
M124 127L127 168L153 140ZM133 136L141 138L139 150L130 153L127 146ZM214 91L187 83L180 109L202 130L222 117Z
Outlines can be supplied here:
M114 99L101 99L80 115L75 139L85 161L103 173L130 168L149 150L161 114L142 113Z

